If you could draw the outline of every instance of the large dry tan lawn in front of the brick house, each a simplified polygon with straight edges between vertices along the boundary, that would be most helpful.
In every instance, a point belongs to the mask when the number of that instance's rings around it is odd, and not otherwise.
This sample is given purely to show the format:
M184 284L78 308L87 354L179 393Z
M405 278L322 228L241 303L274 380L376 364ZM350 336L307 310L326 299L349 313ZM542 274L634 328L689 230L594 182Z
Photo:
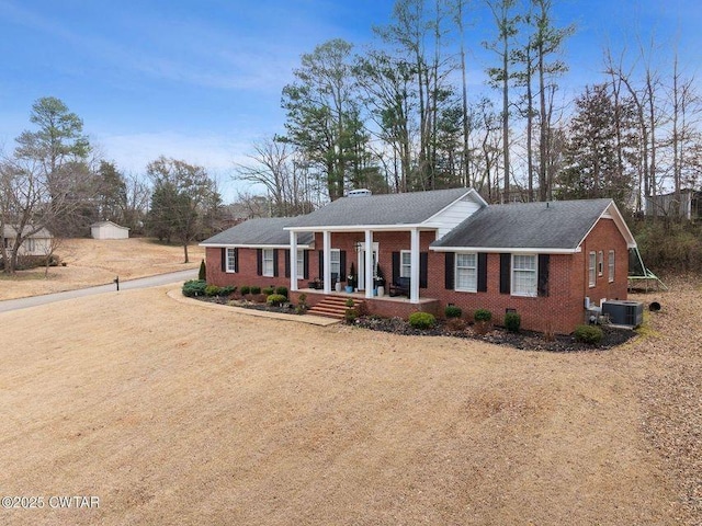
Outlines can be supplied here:
M2 313L0 491L100 507L0 523L699 524L700 287L654 298L645 336L574 354L166 288Z

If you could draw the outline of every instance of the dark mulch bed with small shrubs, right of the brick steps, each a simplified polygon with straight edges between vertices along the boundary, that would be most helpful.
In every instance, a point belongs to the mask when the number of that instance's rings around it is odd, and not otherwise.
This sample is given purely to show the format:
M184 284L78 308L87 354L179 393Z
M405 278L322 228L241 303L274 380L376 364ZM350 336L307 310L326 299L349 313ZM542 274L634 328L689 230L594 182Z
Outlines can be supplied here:
M573 335L556 334L553 341L547 341L540 332L520 331L509 332L503 328L495 327L486 334L478 334L472 328L452 331L442 324L433 329L415 329L409 322L401 318L378 318L374 316L361 317L353 323L373 331L392 332L394 334L416 335L416 336L453 336L469 338L497 345L508 345L523 351L550 351L550 352L575 352L575 351L601 351L611 348L631 340L636 335L633 330L614 329L603 325L604 338L599 345L590 345L577 342Z

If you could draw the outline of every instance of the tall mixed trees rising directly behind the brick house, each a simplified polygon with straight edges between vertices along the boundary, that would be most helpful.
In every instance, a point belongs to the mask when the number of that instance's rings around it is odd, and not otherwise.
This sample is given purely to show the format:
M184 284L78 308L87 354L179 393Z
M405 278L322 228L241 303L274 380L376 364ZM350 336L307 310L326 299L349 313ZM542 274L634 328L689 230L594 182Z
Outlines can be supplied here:
M285 132L253 145L237 179L262 185L276 215L356 187L454 186L494 203L612 197L641 213L648 196L698 186L702 106L677 53L667 68L655 42L605 48L599 78L568 100L576 27L554 22L555 4L397 0L370 46L336 38L301 57L282 90ZM465 43L477 9L491 25L479 88Z

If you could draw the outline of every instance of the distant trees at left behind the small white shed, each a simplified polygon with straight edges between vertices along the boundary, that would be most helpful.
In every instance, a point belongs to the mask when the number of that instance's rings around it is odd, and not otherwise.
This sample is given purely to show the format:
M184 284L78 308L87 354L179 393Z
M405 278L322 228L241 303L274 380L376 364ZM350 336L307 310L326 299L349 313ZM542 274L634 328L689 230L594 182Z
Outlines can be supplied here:
M189 243L219 229L222 197L204 168L160 157L146 167L147 180L124 174L100 158L82 119L53 96L33 104L30 122L36 129L23 132L0 160L0 232L16 232L0 243L5 273L15 272L21 245L44 228L54 236L47 261L57 240L110 220L181 243L185 262Z

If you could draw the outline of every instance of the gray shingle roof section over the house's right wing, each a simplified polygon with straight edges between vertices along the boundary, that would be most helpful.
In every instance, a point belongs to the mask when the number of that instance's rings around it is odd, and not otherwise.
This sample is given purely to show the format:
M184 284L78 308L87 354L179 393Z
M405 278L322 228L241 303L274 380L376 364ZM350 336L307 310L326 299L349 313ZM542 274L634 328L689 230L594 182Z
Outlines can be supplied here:
M611 203L611 199L587 199L491 205L431 245L576 249Z

